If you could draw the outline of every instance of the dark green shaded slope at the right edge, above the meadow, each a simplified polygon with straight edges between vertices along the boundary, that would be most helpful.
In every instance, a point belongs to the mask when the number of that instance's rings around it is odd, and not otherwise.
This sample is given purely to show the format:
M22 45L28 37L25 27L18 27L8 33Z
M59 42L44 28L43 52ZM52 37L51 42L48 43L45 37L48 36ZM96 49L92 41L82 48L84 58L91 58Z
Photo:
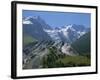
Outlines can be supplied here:
M80 55L87 55L90 54L90 32L86 33L71 46L80 54Z

